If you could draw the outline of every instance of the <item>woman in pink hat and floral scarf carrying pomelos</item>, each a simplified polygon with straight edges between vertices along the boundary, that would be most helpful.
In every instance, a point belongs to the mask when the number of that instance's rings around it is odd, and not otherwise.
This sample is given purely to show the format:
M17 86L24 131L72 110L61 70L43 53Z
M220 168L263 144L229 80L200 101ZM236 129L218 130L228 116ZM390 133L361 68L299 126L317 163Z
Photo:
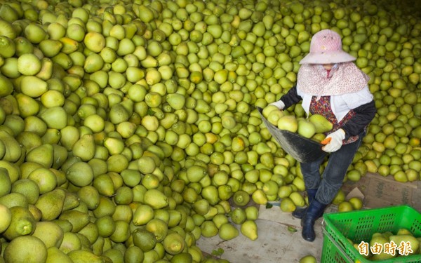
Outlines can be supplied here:
M320 175L324 157L312 163L300 163L309 206L295 210L301 218L302 237L314 241L314 222L342 187L342 182L361 144L366 128L375 116L373 95L368 89L368 76L354 58L342 50L340 35L329 29L312 37L310 52L300 61L297 85L271 104L287 109L302 101L307 116L321 114L333 123L326 136L330 142L322 147L329 153L328 163Z

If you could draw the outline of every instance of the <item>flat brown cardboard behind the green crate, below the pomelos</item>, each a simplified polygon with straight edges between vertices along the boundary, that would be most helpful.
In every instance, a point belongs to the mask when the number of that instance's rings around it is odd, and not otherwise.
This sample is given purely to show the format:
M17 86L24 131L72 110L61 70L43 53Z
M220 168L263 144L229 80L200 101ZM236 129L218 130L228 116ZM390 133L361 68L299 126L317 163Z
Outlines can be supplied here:
M355 188L363 194L365 208L410 205L421 211L421 182L396 182L392 175L367 173L358 182L345 182L342 190L349 194Z

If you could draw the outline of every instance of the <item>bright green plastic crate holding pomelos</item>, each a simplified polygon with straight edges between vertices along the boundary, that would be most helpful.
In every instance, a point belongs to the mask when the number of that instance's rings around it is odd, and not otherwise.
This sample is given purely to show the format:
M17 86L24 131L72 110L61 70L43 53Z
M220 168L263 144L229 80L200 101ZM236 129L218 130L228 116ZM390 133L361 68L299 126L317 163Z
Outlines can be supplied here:
M410 230L414 236L421 236L421 215L409 205L396 205L387 208L374 208L323 215L323 252L321 263L421 263L421 255L395 257L380 261L371 261L360 255L349 243L370 242L376 232L392 231L401 228Z

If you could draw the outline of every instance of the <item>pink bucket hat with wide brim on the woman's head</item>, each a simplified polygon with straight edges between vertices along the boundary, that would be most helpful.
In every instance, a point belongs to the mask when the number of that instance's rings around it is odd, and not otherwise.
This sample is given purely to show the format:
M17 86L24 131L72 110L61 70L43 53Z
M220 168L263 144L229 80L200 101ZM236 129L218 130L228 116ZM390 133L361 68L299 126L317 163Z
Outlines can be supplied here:
M340 35L323 29L312 37L310 52L300 60L300 64L335 64L354 60L356 58L342 50Z

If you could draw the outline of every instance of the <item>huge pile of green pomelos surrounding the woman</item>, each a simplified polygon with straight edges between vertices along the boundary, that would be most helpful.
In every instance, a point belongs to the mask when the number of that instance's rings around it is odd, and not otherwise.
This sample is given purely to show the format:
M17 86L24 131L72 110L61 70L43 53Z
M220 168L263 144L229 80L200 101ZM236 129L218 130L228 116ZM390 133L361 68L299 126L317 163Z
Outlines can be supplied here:
M257 239L251 202L305 205L256 108L295 84L321 29L377 107L346 180L420 180L419 4L1 1L0 262L222 262L196 241ZM283 115L323 138L300 104Z

